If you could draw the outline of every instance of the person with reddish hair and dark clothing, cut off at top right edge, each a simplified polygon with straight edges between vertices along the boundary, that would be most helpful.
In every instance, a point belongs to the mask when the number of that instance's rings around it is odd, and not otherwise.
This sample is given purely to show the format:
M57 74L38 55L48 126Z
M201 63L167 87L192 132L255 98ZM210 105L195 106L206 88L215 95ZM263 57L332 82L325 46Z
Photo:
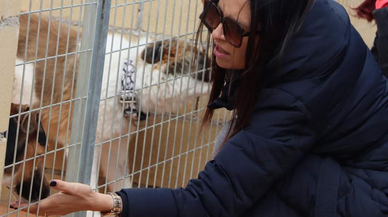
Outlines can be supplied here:
M356 8L357 15L369 22L376 21L376 37L372 54L388 77L388 0L365 0Z

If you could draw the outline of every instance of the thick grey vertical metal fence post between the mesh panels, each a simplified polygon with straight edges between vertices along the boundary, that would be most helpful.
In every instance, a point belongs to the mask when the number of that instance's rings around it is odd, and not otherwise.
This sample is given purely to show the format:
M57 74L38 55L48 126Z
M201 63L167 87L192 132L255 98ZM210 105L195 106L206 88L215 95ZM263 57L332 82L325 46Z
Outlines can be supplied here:
M66 181L90 184L111 0L86 2L90 5L85 7L81 49L92 51L80 57L76 97L86 99L74 102L71 144L76 146L69 149L74 155L69 155ZM79 212L74 217L85 215Z

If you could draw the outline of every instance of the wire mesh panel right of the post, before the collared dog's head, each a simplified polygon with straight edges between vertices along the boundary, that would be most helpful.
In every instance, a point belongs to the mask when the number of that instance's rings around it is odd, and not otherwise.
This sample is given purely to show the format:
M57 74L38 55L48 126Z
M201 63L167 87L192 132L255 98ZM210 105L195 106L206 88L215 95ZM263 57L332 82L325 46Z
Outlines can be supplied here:
M196 0L112 2L95 153L99 191L183 186L209 160L214 138L200 134L198 118L209 60L194 52L202 9Z

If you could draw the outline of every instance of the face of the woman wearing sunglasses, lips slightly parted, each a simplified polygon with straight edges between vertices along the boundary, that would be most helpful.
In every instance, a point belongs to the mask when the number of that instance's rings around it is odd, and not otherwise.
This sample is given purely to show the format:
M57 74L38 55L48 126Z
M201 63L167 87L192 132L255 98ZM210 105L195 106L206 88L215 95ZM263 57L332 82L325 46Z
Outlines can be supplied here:
M244 31L249 31L251 11L249 0L220 0L218 7L224 17L236 20ZM242 38L241 47L233 47L226 39L222 30L222 23L212 32L215 43L214 55L217 65L224 69L243 69L248 36Z

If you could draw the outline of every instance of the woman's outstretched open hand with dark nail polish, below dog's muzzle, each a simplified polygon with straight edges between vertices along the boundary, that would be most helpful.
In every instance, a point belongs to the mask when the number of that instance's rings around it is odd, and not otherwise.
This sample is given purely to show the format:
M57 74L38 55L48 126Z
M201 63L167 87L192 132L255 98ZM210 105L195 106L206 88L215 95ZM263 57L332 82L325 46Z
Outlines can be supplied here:
M50 182L50 186L60 192L40 201L39 213L38 204L30 206L29 213L38 213L41 216L67 215L84 210L108 212L114 207L112 196L96 193L85 184L53 180ZM10 205L27 212L27 204L18 205L17 202L13 202Z

